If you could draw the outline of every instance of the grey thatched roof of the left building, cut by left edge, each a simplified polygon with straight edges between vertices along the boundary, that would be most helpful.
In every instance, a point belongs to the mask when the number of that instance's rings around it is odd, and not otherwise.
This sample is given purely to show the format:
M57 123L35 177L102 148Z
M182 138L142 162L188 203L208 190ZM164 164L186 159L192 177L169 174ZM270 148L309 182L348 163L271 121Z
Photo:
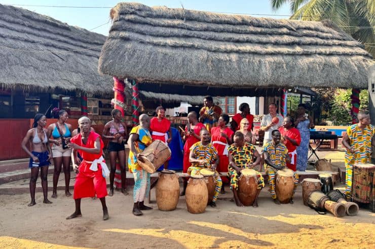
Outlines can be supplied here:
M0 89L110 93L113 80L97 72L105 39L48 16L0 5Z

